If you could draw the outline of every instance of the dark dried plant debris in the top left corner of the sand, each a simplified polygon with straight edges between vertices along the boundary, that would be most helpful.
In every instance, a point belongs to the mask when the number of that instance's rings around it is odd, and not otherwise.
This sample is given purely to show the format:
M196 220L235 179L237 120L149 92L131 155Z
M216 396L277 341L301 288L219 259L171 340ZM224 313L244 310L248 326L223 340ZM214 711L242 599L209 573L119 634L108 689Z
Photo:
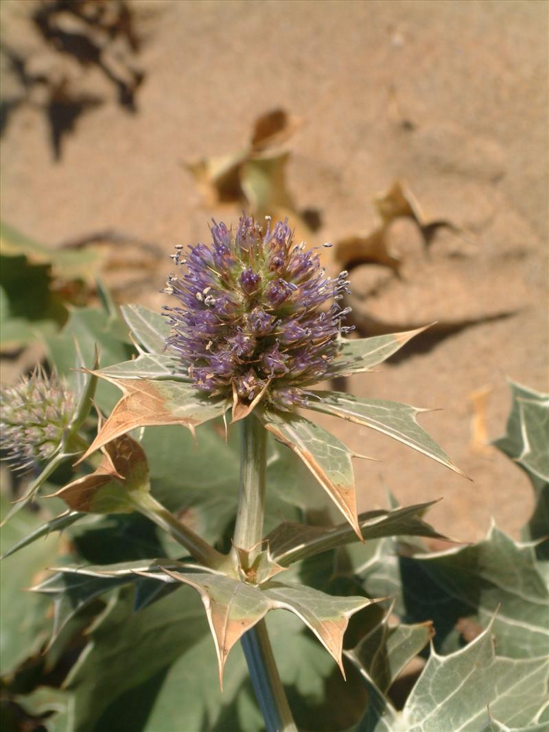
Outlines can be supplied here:
M1 130L20 105L40 108L59 160L64 136L86 111L109 97L136 111L144 73L137 61L141 42L134 10L126 0L39 0L23 10L34 43L30 48L12 44L12 21L6 23L1 53L8 90L2 95Z

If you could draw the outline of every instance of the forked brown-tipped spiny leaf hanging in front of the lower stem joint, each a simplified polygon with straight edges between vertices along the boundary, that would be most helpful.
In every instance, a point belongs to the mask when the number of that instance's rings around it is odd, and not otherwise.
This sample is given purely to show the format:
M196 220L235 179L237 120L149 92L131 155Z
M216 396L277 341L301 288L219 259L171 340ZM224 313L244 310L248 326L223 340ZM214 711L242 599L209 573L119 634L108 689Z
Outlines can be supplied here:
M332 597L294 583L250 585L219 574L189 575L165 570L174 580L193 587L201 595L212 630L219 662L220 681L229 651L244 632L269 610L290 610L313 631L343 671L343 634L349 618L376 600L365 597Z

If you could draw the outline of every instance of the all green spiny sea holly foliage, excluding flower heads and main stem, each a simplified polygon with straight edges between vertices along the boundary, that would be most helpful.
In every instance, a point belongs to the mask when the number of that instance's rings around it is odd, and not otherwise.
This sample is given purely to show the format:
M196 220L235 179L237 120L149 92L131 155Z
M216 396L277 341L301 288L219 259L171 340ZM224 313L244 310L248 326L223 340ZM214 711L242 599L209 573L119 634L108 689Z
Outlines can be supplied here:
M79 397L72 424L91 448L65 445L62 459L34 481L34 512L23 506L4 528L7 722L16 709L48 732L108 732L121 719L143 732L260 732L264 721L236 641L266 616L300 730L549 724L547 397L513 385L507 436L497 443L529 471L537 491L525 543L493 527L477 545L430 553L422 537L442 537L425 523L428 504L356 515L353 455L328 433L319 436L313 422L264 409L261 421L278 438L268 443L265 539L253 551L235 551L238 432L230 427L225 441L224 410L201 405L187 373L163 352L165 321L139 307L124 315L139 343L131 360L124 361L128 346L113 335L123 329L109 315L97 328L83 327L91 323L85 312L72 313L67 328L77 335L78 358L64 332L49 343L51 366ZM365 370L410 336L345 344L342 368ZM70 370L83 364L93 372L85 378ZM112 384L122 389L118 402ZM418 410L323 396L323 411L453 467L417 425ZM92 397L110 411L97 427ZM162 416L143 421L146 409ZM181 425L198 427L198 444ZM71 475L75 453L85 459ZM34 592L21 591L31 584ZM424 668L403 698L400 679L411 662Z

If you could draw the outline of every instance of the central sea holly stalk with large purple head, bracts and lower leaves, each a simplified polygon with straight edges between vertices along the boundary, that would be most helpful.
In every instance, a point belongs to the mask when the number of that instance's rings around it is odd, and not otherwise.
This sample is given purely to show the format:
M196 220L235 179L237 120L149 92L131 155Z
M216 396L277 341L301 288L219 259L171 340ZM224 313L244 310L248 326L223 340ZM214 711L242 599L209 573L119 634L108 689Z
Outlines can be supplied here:
M362 594L337 597L307 587L295 581L291 564L346 544L353 536L363 542L397 530L437 535L419 518L423 507L357 515L352 460L362 456L297 409L365 425L459 470L419 426L422 410L313 388L335 376L367 372L418 331L346 340L351 330L344 325L348 308L340 305L348 288L346 272L326 276L318 254L307 250L305 242L294 243L287 222L272 227L267 220L264 230L242 217L235 229L214 222L211 234L210 245L176 248L173 260L179 271L168 277L165 288L176 305L165 307L163 316L143 307L124 308L138 356L89 372L90 384L97 378L110 381L121 389L122 398L100 420L97 437L79 459L91 461L94 471L55 496L68 504L71 518L90 512L141 512L190 554L189 560L176 564L151 559L92 571L96 581L78 608L97 596L97 580L100 591L108 578L113 583L146 580L149 587L153 580L159 592L163 585L190 586L206 610L220 681L229 652L241 641L267 729L291 730L296 727L264 623L266 613L294 613L345 674L343 634L348 622L378 602ZM229 411L231 425L239 422L242 447L232 546L222 553L152 497L146 454L128 433L138 427L182 425L194 434L196 427L216 417L224 417L226 429ZM299 456L345 524L322 528L285 523L265 537L267 433ZM34 433L26 437L29 441ZM55 437L59 447L51 454L64 444L59 433ZM61 569L61 577L70 571ZM90 576L90 570L82 571ZM57 586L59 580L46 581L40 591ZM59 619L56 626L62 627Z

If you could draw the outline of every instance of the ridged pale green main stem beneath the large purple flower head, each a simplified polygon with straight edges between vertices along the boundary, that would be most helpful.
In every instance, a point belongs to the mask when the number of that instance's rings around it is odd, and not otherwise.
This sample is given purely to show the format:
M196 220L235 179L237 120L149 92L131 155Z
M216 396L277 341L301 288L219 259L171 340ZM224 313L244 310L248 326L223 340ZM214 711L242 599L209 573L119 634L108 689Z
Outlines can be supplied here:
M253 414L242 419L241 425L239 506L233 540L236 547L250 550L263 538L266 430ZM265 621L244 633L241 643L267 732L297 732Z

